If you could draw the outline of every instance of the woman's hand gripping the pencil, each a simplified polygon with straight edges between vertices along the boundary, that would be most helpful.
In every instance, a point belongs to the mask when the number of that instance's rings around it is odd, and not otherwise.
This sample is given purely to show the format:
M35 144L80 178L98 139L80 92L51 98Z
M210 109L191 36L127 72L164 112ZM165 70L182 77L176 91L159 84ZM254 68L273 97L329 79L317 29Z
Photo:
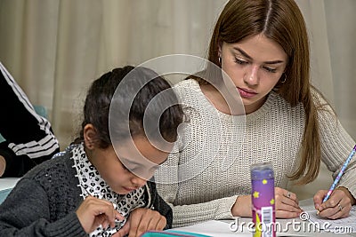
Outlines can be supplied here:
M355 199L347 188L341 186L336 188L330 195L328 201L322 200L328 194L328 190L320 190L314 195L314 207L318 209L320 217L338 219L348 217Z

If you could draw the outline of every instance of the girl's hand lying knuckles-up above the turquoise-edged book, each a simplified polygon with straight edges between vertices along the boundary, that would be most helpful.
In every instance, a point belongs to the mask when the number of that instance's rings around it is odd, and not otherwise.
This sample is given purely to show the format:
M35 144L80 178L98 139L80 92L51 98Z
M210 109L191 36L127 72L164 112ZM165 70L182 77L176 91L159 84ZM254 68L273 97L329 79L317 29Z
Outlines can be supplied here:
M129 237L141 236L147 231L161 231L165 226L166 217L158 211L145 208L134 209L125 225L113 237L123 237L127 233Z

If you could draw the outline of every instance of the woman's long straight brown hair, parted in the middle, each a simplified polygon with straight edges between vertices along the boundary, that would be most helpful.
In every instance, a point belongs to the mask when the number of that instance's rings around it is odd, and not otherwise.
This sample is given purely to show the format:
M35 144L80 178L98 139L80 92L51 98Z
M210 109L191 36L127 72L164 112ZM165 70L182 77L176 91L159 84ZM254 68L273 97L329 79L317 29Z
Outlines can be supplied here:
M309 40L302 12L293 0L231 0L216 22L208 50L208 60L221 67L218 60L221 43L240 41L263 34L279 43L286 51L287 80L281 78L275 91L292 107L302 103L305 127L301 145L301 162L291 180L307 184L317 178L320 170L320 135L317 107L312 99L310 83ZM208 70L208 68L206 68ZM199 83L205 81L196 78Z

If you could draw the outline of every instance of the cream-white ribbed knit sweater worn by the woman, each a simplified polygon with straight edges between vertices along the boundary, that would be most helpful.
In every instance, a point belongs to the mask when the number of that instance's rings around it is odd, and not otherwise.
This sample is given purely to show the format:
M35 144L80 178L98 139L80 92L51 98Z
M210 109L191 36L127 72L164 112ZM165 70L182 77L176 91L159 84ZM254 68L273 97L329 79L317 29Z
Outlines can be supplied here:
M189 122L155 175L158 193L173 208L173 226L231 218L237 197L251 192L252 163L272 162L275 186L287 188L287 175L299 162L302 105L290 107L272 91L254 113L232 116L217 111L195 80L177 83L174 89ZM319 120L322 162L336 176L354 141L332 113L320 111ZM356 197L356 162L339 185Z

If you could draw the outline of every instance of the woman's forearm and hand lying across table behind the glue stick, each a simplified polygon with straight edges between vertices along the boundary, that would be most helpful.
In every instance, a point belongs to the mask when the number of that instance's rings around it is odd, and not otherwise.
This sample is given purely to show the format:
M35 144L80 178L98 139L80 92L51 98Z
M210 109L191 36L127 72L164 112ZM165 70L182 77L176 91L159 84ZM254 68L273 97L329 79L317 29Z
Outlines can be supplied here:
M227 219L233 217L251 217L251 195L232 195L215 199L212 201L198 202L189 205L176 205L179 186L178 183L179 152L172 152L165 165L170 167L168 170L158 170L156 173L158 194L173 209L173 227L183 225L193 225L198 222L211 219ZM219 174L216 174L219 175ZM163 183L164 182L164 183ZM218 186L219 184L216 184ZM218 187L216 187L218 188ZM197 192L196 190L192 192ZM298 217L301 209L298 206L296 195L276 187L276 210L278 217ZM194 201L191 201L194 202Z

